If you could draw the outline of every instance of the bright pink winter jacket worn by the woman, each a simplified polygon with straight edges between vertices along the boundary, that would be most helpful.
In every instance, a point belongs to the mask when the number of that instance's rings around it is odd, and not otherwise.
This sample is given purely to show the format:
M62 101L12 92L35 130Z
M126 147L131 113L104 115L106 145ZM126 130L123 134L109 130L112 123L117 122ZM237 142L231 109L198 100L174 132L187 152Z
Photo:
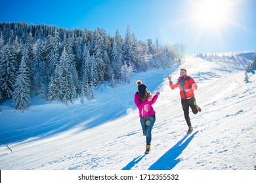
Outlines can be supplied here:
M152 105L156 102L156 99L158 99L158 95L154 95L154 97L150 97L144 101L140 101L139 92L135 93L134 101L137 107L139 108L140 118L156 114L154 108L152 107Z

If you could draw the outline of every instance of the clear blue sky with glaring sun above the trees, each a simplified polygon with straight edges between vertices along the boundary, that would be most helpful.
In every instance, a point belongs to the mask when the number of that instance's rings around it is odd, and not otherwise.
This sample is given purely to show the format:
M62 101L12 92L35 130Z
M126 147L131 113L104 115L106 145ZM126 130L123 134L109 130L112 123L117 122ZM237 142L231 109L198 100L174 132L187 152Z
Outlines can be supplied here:
M110 35L118 29L123 37L129 24L137 39L182 42L186 53L256 50L253 0L0 0L0 5L0 22L101 27Z

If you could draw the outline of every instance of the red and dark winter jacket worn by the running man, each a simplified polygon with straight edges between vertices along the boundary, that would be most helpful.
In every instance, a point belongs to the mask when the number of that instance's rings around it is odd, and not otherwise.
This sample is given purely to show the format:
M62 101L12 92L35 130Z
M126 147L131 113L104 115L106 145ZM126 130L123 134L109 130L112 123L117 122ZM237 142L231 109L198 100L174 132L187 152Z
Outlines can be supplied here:
M176 84L170 82L170 87L172 90L179 87L179 89L181 90L181 99L189 99L190 97L194 97L193 91L198 89L198 86L196 85L196 82L193 80L193 78L187 75L185 75L183 78L179 78Z

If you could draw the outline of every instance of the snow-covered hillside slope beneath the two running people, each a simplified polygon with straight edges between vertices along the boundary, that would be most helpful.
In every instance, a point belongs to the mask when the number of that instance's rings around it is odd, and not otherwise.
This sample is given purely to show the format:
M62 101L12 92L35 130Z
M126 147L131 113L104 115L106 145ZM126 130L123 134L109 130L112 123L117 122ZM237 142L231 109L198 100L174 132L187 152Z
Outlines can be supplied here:
M239 54L239 53L238 53ZM0 106L0 169L254 170L256 169L256 75L245 82L244 67L187 56L173 71L137 73L131 84L100 86L96 99L68 107L33 97L28 111ZM198 84L202 112L190 112L194 132L186 135L179 90L167 76L185 68ZM133 103L136 80L161 92L154 105L152 152Z

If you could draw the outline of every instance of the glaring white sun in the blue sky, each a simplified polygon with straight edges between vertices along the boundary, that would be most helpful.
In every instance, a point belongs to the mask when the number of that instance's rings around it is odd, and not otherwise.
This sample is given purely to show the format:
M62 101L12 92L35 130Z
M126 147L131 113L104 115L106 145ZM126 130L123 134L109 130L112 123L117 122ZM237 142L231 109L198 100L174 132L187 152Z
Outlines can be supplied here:
M204 29L219 28L228 18L226 0L201 0L194 4L194 20Z

